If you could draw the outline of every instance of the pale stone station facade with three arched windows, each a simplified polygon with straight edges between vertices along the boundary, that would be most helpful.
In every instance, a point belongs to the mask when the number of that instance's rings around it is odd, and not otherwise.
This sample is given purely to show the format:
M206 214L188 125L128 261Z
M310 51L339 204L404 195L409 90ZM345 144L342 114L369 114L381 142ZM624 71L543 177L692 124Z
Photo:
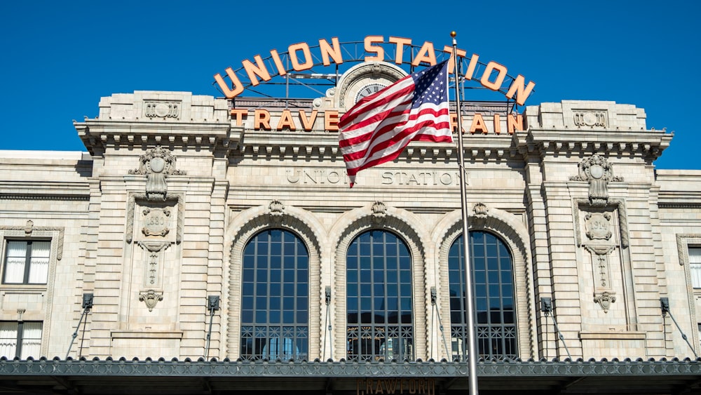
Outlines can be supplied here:
M114 94L75 122L88 152L0 152L4 356L464 359L456 146L349 189L353 89ZM615 102L463 104L482 357L696 358L701 172L655 169L672 134Z

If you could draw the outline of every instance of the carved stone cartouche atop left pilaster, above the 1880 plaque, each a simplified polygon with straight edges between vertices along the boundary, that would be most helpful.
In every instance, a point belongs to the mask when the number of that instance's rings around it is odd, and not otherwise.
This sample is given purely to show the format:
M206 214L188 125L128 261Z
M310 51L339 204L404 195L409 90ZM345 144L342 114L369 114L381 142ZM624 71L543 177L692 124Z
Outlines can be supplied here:
M168 194L167 175L184 175L183 170L175 169L175 156L166 149L158 146L149 149L139 159L139 168L129 170L129 174L147 175L146 198L153 201L164 201Z

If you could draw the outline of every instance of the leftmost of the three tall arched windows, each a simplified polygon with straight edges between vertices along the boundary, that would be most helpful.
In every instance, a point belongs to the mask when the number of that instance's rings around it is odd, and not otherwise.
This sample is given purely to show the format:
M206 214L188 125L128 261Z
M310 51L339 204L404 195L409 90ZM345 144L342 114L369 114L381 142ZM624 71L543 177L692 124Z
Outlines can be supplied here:
M268 229L243 250L241 358L307 359L309 254L282 229Z

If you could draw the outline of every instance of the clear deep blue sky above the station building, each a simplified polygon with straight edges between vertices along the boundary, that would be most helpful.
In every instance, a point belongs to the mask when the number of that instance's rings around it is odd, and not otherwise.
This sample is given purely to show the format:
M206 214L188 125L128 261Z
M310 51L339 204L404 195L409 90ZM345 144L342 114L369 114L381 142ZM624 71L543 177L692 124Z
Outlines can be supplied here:
M642 107L648 128L674 130L655 165L701 169L699 11L677 0L3 1L0 149L84 151L72 120L97 116L101 97L220 96L213 74L292 43L383 35L440 47L456 30L468 53L536 82L527 105Z

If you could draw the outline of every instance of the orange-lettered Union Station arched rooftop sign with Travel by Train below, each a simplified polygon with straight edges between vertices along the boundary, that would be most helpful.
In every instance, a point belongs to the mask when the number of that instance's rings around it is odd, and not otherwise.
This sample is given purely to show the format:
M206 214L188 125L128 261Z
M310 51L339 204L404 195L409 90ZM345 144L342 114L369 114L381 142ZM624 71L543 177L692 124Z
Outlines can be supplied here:
M468 58L467 51L461 49L456 53L458 80L461 83L472 81L483 88L502 93L515 105L524 105L536 86L533 81L526 83L526 78L521 74L510 76L508 68L501 63L482 62L475 53ZM313 45L306 42L294 43L284 52L272 49L266 57L254 55L252 59L243 60L238 69L226 68L224 75L217 73L214 79L224 96L233 101L230 114L236 125L243 126L246 122L252 130L264 131L311 132L322 127L327 132L337 132L341 116L339 110L342 111L344 107L348 109L360 98L397 81L407 74L405 69L412 72L417 67L436 65L442 60L449 61L451 74L454 74L455 69L451 46L436 48L430 41L415 44L411 39L395 36L367 36L363 41L351 42L339 42L337 37L333 37L330 42L320 39ZM352 63L360 64L346 67ZM318 68L333 69L333 72L320 74L316 72ZM370 72L370 68L374 71ZM381 70L378 71L379 69ZM334 105L327 107L302 106L279 110L236 107L238 102L233 99L246 89L254 88L257 91L262 83L275 83L275 77L285 79L285 83L289 83L290 79L305 79L305 85L311 84L309 79L326 79L327 83L336 84L335 95L338 98ZM456 128L456 114L451 114L451 121ZM462 124L463 133L470 134L510 135L515 130L524 130L522 115L517 112L470 114L463 119Z

